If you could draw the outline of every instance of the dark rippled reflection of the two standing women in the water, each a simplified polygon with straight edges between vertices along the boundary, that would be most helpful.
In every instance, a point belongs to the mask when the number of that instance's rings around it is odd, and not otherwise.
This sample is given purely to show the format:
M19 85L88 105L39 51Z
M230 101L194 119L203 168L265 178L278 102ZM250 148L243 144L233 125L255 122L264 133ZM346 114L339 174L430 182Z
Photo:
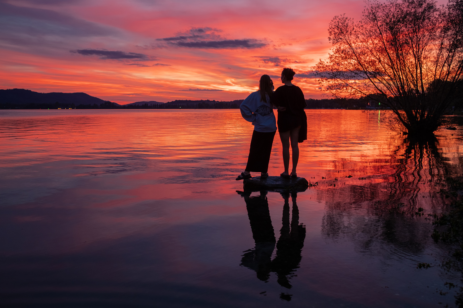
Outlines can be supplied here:
M270 272L277 275L278 284L285 288L291 288L289 280L301 260L301 251L306 237L306 228L299 224L299 209L296 204L296 193L291 194L293 201L293 211L290 222L289 213L289 193L282 193L285 200L283 205L282 229L280 238L275 241L275 232L270 219L269 203L267 192L261 192L260 196L250 196L250 193L241 193L246 202L249 222L252 230L252 237L256 242L256 247L244 252L241 259L242 266L256 271L257 278L267 281ZM275 249L276 256L272 260Z

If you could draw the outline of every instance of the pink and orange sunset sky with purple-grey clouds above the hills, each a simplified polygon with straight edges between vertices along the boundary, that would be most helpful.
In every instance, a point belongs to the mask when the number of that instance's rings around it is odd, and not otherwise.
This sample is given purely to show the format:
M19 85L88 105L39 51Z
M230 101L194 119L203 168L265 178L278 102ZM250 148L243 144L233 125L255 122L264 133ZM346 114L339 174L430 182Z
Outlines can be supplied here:
M125 104L243 99L283 67L306 98L328 24L362 0L0 0L0 89L85 92Z

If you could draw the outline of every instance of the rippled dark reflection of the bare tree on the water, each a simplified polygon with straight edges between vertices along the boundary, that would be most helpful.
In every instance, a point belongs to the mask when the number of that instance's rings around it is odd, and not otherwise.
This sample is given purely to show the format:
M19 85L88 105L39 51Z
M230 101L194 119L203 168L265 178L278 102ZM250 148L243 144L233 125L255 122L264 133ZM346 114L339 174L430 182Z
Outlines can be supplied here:
M399 251L416 254L431 243L424 217L416 216L419 207L426 213L442 211L444 196L435 193L460 166L448 163L434 140L405 140L392 152L383 181L369 185L328 189L322 234L336 240L350 238L362 253L386 255L389 245ZM421 213L424 213L421 212Z

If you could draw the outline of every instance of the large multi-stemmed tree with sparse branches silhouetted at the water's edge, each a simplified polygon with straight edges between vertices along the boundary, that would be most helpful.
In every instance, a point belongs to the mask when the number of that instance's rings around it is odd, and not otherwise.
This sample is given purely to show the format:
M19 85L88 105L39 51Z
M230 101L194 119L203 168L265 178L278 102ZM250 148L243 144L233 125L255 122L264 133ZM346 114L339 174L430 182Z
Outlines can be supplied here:
M358 22L332 19L332 54L315 66L320 84L383 103L411 135L432 134L462 86L463 0L365 3Z

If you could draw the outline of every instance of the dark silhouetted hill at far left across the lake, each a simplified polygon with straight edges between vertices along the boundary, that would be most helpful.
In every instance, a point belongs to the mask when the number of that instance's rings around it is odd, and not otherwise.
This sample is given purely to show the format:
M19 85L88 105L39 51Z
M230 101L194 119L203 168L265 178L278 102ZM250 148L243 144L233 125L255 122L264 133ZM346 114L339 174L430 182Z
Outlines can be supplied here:
M117 103L108 104L98 97L86 93L39 93L25 89L0 90L0 108L76 108L79 105L120 106Z

